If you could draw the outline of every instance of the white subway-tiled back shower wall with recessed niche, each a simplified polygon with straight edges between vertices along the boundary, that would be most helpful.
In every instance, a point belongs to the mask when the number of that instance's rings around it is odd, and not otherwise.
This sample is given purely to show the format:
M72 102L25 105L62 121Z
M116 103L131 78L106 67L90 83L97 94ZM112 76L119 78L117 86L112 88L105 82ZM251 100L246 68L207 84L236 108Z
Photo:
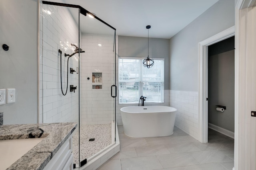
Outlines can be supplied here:
M82 125L108 124L114 120L114 98L110 94L115 82L113 47L114 30L113 35L82 34L85 51L80 58ZM102 73L102 89L92 89L93 72Z

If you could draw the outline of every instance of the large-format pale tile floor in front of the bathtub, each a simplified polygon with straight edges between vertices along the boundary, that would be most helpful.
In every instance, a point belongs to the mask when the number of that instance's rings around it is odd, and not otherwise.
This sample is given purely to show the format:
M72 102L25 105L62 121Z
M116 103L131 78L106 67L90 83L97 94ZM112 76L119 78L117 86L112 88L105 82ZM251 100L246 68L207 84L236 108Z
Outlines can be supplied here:
M209 129L200 143L177 127L168 137L132 138L118 125L120 152L97 170L232 170L234 139Z

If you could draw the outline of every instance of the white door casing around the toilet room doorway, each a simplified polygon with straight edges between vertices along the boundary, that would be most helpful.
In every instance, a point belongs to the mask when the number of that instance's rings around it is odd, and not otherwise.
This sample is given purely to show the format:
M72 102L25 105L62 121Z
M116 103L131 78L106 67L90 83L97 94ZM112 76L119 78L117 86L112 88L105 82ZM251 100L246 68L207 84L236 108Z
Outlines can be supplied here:
M232 26L212 37L198 43L199 78L198 78L198 141L208 143L208 46L235 35Z

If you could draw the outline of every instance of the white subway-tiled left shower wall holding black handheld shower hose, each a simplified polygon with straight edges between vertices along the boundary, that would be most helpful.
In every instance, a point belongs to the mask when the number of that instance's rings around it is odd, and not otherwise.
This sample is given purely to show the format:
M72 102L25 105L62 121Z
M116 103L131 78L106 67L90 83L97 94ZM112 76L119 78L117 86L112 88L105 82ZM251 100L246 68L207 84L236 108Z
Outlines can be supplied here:
M40 123L78 122L78 74L68 73L68 92L60 88L60 53L62 51L62 87L67 85L67 61L64 53L74 53L78 45L78 25L68 8L40 4ZM78 67L78 54L69 59L69 68Z

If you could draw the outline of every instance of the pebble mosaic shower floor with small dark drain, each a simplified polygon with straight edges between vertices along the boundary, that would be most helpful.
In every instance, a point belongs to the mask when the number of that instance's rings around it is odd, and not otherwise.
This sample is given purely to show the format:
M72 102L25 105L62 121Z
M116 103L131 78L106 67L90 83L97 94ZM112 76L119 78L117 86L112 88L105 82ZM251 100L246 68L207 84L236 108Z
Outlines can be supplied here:
M94 141L89 139L94 138ZM74 164L79 164L78 132L73 137ZM80 161L88 159L111 144L111 124L80 127Z

